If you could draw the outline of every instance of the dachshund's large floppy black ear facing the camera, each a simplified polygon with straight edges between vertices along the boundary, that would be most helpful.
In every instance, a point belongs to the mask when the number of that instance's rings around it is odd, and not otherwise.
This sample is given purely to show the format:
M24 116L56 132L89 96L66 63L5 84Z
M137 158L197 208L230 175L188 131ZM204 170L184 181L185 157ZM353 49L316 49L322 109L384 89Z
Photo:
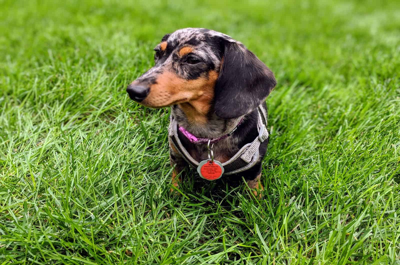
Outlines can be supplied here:
M238 42L222 41L223 63L215 84L215 113L235 118L257 108L276 85L274 74Z

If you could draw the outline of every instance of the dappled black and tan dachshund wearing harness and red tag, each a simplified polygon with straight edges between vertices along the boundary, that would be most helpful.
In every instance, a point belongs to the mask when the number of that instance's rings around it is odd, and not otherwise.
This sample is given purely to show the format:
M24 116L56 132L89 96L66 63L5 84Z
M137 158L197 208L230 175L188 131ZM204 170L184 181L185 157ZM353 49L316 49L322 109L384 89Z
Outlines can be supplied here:
M244 177L260 196L272 71L241 42L204 28L166 34L154 51L155 65L126 91L143 106L171 107L172 184L190 165L205 179Z

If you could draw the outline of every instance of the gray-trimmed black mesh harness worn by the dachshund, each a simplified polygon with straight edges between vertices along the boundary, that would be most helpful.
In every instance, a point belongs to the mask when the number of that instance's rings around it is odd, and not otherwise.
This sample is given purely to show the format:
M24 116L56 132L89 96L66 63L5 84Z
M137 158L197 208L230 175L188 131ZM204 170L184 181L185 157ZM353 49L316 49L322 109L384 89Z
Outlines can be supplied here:
M222 163L224 167L223 175L231 175L246 171L253 167L260 159L259 157L259 147L262 142L268 139L267 130L267 113L264 109L263 104L257 107L258 110L258 120L257 129L258 137L254 139L251 143L248 143L242 147L238 153L236 153L231 159ZM170 126L168 127L168 136L172 140L172 144L178 153L184 158L184 160L192 167L197 168L199 163L193 159L193 157L186 151L185 147L182 145L178 137L178 122L173 119L171 115Z

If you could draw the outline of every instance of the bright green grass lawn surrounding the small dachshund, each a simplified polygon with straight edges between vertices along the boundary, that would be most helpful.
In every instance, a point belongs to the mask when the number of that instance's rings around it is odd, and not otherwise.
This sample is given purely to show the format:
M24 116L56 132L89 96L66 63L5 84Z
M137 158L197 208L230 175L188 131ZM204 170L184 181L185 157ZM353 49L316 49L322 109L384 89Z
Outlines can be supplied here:
M398 1L0 9L0 264L400 262ZM169 110L125 92L185 27L275 73L260 201L195 171L171 194Z

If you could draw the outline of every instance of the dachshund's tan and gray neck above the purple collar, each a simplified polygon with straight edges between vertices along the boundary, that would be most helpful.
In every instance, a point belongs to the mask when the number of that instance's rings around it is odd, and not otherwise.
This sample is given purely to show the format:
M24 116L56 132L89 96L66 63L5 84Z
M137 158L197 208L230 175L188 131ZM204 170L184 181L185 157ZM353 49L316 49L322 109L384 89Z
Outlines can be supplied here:
M211 108L206 113L190 103L177 104L171 107L171 115L179 126L184 127L196 137L218 138L231 132L240 122L242 116L232 119L218 117Z

